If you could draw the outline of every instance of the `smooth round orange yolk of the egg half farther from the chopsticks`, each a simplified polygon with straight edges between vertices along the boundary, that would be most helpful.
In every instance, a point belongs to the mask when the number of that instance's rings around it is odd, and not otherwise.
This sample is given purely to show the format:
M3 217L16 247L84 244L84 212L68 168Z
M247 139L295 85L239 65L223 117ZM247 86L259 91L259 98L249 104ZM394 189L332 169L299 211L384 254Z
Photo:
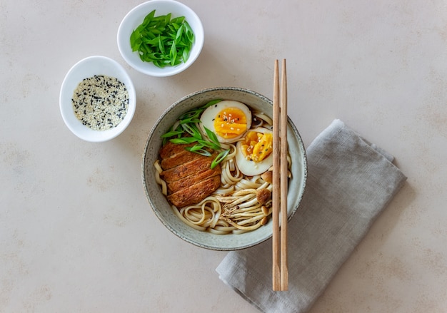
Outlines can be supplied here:
M241 109L224 108L214 118L214 130L222 138L235 138L246 131L246 129L246 116Z

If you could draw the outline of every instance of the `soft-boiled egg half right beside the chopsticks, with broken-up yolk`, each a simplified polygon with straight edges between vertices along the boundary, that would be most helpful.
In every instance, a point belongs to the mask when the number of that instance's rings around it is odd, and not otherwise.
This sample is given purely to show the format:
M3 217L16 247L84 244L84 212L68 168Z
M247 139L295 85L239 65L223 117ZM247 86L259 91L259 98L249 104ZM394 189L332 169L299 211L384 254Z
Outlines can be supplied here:
M248 130L236 144L236 164L247 176L266 172L273 165L273 132L261 127Z

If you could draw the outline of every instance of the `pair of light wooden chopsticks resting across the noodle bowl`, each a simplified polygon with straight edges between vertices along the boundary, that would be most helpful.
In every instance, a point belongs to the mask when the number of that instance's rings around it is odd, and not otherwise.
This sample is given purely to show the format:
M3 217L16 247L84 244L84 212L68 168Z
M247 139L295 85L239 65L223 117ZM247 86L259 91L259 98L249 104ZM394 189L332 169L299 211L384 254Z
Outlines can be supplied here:
M287 78L282 61L281 93L278 60L273 74L273 290L288 289L287 265ZM281 227L280 227L281 212Z

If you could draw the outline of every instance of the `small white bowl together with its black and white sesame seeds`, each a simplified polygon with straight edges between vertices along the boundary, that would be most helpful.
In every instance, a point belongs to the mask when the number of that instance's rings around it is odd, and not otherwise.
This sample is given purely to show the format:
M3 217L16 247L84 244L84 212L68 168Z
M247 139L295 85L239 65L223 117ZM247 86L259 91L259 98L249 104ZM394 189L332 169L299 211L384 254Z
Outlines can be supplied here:
M59 106L74 135L96 143L111 140L134 117L134 83L118 62L106 56L89 56L66 74Z

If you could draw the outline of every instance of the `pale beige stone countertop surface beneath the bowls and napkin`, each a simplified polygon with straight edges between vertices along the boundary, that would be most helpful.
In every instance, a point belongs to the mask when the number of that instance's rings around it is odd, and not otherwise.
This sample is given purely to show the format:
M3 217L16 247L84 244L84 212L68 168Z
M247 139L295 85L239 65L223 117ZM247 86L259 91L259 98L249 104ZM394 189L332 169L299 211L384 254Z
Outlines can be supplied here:
M311 313L446 312L446 2L183 2L204 24L204 49L155 78L116 44L139 1L0 1L0 312L258 312L219 279L226 252L156 218L141 155L156 119L189 93L271 98L276 58L306 146L339 118L408 176ZM59 112L64 76L92 55L121 63L138 97L129 128L106 143L76 138Z

